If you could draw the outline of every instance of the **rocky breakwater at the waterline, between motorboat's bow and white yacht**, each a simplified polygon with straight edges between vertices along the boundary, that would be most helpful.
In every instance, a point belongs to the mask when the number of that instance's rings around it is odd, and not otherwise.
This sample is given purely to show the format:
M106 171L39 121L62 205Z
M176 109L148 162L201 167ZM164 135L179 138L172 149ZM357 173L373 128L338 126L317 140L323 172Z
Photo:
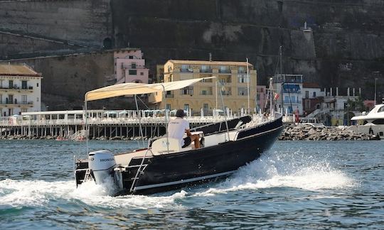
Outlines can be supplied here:
M311 126L291 124L284 128L280 141L357 141L377 140L378 137L364 133L355 133L351 129L336 126Z

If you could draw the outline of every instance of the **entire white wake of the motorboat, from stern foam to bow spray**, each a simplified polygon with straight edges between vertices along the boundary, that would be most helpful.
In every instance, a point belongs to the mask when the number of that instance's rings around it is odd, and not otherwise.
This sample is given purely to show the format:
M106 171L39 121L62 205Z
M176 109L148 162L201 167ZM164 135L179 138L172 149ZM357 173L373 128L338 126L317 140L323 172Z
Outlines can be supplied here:
M294 153L270 151L258 160L240 168L227 180L210 183L204 187L191 188L188 192L166 192L157 195L127 195L112 197L113 182L96 185L84 182L79 187L73 180L46 182L43 180L1 180L1 207L43 207L50 202L63 200L80 205L84 209L183 209L180 200L186 197L203 197L246 190L293 188L299 190L345 190L356 182L336 166L329 163L324 154L306 154L304 150Z

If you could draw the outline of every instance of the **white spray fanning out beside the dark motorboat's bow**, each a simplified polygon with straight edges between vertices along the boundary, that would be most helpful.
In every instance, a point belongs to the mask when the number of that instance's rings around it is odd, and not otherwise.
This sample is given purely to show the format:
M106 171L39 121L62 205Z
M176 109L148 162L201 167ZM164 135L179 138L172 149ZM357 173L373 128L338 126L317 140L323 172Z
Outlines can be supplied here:
M196 196L209 196L239 190L291 187L308 191L343 190L356 186L344 172L334 168L329 159L302 153L268 152L240 168L232 177Z

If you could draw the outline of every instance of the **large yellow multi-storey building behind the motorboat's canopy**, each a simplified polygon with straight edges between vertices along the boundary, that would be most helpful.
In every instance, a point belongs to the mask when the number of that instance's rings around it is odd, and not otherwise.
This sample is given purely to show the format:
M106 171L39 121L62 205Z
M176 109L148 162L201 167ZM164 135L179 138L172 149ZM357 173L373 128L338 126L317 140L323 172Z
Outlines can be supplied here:
M248 75L247 75L248 64ZM149 98L157 109L191 110L198 115L203 109L205 115L212 114L213 109L228 107L238 114L241 109L254 111L256 103L257 74L253 65L247 62L169 60L164 65L164 82L188 80L199 77L216 77L205 80L173 92L166 92ZM248 83L249 80L249 83ZM248 90L250 97L248 97ZM216 96L217 95L217 96Z

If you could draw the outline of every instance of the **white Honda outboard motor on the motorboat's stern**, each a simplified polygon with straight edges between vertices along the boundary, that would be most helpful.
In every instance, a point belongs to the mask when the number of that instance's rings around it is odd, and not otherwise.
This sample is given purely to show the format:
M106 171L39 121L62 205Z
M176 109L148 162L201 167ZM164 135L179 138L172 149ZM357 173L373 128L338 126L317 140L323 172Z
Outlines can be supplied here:
M105 178L113 177L112 173L116 167L116 161L109 150L98 150L88 155L88 165L93 172L95 182L100 185Z

